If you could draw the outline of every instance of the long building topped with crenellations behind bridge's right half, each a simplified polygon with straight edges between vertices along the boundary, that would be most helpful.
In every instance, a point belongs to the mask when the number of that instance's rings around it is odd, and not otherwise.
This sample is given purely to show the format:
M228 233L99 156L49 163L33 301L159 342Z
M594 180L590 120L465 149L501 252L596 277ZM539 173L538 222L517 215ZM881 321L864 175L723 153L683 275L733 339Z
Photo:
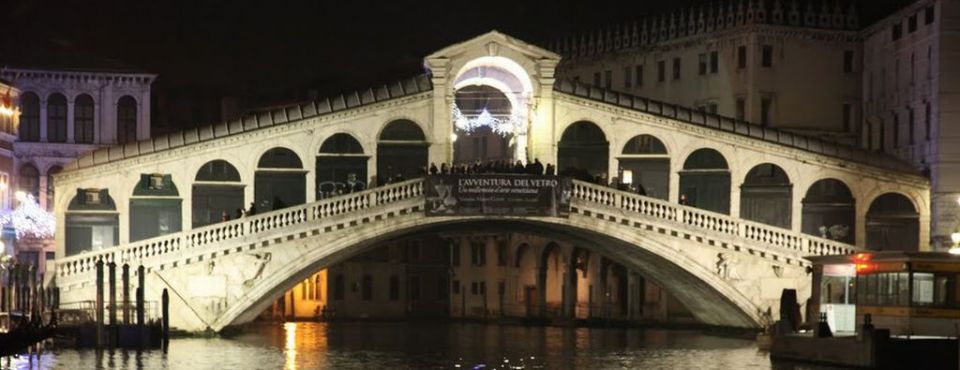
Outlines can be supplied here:
M727 1L558 42L560 78L854 143L853 8ZM816 107L816 109L811 109Z

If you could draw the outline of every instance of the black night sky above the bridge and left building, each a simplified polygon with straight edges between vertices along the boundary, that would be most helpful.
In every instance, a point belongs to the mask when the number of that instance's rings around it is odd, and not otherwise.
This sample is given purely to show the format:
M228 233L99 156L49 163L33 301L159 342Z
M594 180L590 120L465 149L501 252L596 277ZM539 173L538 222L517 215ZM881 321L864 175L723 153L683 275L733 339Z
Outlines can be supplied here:
M868 4L864 16L876 18L903 1L861 2ZM305 99L311 90L328 96L413 76L423 72L425 55L491 29L543 45L704 1L5 3L0 65L159 74L154 125L184 127L219 119L222 96L254 108Z

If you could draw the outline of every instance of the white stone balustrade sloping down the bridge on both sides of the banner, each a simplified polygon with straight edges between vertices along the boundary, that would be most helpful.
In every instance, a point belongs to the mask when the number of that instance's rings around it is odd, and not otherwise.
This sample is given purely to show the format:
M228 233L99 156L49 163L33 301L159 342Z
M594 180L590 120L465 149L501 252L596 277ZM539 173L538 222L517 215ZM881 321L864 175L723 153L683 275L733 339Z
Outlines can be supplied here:
M56 261L57 278L70 279L74 276L89 274L96 268L96 263L99 260L104 261L104 263L140 264L143 261L173 253L196 250L257 233L349 215L422 196L423 181L420 179L345 194L309 204L142 240L125 246L62 258ZM580 206L595 204L619 209L627 215L639 215L643 218L660 221L663 224L673 225L673 227L686 227L721 236L725 235L728 238L750 240L775 248L782 248L792 254L801 256L849 254L859 250L855 246L838 241L580 181L573 182L573 199Z

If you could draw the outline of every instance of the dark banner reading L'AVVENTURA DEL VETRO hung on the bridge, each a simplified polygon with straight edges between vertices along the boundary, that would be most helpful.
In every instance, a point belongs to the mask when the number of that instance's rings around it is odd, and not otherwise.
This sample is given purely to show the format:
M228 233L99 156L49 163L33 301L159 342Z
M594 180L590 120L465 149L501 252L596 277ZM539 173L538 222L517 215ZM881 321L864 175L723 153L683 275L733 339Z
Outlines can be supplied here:
M570 214L569 178L511 174L431 175L424 182L427 216L553 216Z

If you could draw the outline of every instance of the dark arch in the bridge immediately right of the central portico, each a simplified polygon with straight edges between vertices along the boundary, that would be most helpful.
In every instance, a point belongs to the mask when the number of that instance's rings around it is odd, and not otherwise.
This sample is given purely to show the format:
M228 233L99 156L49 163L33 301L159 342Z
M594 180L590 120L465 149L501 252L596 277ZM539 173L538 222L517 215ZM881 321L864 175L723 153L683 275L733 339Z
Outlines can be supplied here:
M607 176L609 145L607 137L593 122L574 122L563 131L557 150L560 173L591 181Z

